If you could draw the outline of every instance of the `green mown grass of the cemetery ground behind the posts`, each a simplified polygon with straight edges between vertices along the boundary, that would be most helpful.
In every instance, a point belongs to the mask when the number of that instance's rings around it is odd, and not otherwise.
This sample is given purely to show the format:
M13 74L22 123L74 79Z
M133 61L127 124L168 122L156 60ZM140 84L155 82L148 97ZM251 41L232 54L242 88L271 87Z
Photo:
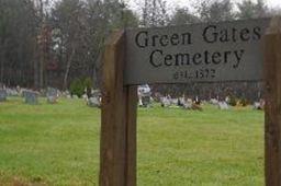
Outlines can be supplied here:
M263 112L138 109L137 185L261 186ZM98 185L100 109L0 103L0 185Z

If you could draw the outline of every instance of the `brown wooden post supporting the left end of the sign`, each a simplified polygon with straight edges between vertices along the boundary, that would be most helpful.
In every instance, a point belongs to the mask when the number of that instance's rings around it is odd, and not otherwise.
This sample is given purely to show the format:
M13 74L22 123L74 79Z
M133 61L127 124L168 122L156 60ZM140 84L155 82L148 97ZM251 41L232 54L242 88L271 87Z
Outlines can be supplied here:
M136 185L136 86L124 86L125 33L106 43L102 70L100 186Z

